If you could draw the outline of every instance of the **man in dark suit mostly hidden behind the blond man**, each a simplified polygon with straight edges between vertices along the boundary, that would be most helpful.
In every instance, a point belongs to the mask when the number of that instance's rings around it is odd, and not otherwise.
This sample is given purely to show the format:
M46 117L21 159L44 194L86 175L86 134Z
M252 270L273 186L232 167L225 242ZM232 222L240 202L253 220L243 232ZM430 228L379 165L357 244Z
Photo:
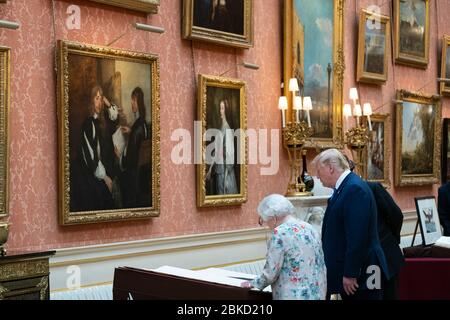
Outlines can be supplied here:
M377 203L378 236L389 269L389 277L385 279L383 286L383 300L397 300L398 275L405 263L399 247L403 213L381 183L367 182L367 184Z

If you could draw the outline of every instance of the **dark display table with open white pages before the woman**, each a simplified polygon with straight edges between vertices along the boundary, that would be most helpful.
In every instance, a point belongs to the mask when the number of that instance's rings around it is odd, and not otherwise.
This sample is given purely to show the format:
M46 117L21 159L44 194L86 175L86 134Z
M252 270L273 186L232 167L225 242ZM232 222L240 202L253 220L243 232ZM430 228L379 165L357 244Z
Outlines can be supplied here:
M188 270L172 266L157 269L116 268L113 299L269 300L270 286L263 291L240 285L256 276L218 268Z

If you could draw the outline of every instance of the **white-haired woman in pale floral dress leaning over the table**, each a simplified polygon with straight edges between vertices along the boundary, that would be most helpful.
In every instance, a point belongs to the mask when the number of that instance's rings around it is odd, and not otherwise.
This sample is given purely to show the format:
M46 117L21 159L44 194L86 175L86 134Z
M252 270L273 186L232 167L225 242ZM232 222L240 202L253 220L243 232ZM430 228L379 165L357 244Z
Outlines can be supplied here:
M241 286L262 290L271 285L274 300L323 300L327 286L320 236L310 224L294 218L294 212L282 195L261 201L260 223L273 229L266 264L260 276Z

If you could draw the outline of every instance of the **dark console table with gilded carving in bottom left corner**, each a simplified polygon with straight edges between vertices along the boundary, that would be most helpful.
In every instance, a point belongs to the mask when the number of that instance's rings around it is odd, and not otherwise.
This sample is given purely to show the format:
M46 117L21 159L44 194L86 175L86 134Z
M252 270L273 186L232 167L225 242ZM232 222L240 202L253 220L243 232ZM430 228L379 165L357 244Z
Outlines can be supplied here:
M8 252L0 256L0 299L48 300L49 257L54 253Z

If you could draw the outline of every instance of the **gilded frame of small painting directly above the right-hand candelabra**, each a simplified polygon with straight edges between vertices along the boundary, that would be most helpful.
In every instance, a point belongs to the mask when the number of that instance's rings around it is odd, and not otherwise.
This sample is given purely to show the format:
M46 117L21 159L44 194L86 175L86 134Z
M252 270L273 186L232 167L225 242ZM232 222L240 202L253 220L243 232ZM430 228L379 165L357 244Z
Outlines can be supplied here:
M366 25L367 21L376 21L375 25L379 23L384 25L384 54L383 54L383 73L369 72L364 70L365 55L366 55ZM390 18L388 16L380 15L371 11L361 10L359 15L359 38L358 38L358 62L356 81L383 84L388 78L388 56L391 44Z

